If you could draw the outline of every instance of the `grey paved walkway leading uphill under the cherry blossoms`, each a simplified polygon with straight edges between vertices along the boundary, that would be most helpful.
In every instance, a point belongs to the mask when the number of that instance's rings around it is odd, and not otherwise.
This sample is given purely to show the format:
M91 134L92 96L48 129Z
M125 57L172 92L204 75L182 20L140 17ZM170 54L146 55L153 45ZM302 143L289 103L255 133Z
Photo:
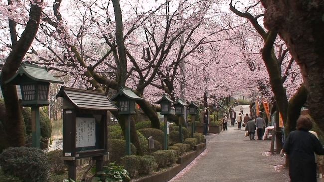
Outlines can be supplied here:
M207 149L169 182L289 182L284 158L267 152L271 141L251 141L244 130L206 136Z

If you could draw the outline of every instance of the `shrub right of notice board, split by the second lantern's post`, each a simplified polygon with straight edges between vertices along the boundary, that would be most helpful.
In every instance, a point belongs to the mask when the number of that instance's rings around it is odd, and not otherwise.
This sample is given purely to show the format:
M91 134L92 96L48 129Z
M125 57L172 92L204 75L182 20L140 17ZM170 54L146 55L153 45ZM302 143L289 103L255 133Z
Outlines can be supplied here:
M119 162L126 154L126 142L123 139L111 139L109 148L109 159L111 162ZM136 154L136 148L131 143L131 153Z

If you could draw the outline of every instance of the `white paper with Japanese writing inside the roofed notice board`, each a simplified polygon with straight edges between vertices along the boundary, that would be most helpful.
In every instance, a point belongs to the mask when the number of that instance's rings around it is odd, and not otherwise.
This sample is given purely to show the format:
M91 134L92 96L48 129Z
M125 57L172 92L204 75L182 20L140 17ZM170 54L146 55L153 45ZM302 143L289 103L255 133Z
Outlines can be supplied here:
M96 120L95 118L76 118L75 147L95 146Z

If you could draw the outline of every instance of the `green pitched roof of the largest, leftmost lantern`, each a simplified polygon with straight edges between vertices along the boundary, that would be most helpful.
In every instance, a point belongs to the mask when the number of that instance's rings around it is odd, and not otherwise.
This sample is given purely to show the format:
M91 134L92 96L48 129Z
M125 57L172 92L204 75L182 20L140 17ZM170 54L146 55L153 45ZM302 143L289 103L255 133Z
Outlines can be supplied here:
M47 68L27 63L22 63L17 73L5 83L19 85L23 81L51 82L64 83L51 75Z

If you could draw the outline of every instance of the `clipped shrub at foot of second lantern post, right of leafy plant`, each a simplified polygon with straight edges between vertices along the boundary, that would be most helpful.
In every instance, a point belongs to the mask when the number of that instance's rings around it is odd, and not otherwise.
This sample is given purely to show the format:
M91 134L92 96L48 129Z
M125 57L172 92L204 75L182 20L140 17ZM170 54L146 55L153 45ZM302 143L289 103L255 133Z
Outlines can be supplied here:
M128 171L129 176L133 178L139 173L141 165L141 156L128 155L121 157L120 164Z

